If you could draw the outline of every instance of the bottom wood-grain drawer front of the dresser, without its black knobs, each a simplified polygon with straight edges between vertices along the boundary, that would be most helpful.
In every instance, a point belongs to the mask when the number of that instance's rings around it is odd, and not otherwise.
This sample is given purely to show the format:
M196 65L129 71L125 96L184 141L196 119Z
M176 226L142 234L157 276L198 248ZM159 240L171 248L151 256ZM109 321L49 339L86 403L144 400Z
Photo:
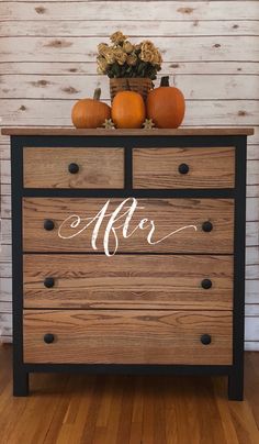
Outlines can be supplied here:
M25 310L23 332L25 363L232 364L228 311Z

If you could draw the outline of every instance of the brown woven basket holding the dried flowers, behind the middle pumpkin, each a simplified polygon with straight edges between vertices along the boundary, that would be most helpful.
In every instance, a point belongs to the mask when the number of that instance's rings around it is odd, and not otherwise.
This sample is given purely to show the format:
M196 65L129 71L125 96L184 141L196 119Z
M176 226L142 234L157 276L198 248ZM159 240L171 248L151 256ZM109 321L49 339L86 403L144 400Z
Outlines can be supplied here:
M110 95L112 101L117 92L126 90L138 92L145 101L150 89L153 89L153 81L148 77L110 79Z

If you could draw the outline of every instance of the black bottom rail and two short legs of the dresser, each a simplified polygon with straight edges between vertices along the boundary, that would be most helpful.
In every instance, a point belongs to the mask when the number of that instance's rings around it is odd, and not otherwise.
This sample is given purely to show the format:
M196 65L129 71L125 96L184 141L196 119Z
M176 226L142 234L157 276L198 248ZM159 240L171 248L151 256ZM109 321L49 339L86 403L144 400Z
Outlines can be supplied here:
M69 373L89 375L184 375L227 376L228 399L243 401L243 377L232 366L193 365L113 365L113 364L24 364L14 370L13 396L30 395L30 373Z

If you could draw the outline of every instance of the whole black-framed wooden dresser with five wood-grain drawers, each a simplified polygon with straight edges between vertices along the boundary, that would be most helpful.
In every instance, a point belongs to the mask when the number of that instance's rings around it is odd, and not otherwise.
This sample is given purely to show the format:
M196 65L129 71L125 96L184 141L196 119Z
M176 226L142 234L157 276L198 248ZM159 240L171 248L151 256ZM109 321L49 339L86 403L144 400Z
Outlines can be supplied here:
M227 375L241 400L252 130L2 133L13 393L32 371L178 373Z

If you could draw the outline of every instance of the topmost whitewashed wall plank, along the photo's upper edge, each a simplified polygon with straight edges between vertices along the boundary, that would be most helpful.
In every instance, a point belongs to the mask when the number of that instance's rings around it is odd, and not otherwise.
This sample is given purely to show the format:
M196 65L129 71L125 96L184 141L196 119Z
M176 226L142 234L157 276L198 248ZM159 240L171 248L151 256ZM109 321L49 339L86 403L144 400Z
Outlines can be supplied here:
M136 20L136 18L146 21L168 20L172 18L176 21L182 20L255 20L259 18L259 8L257 1L247 0L246 8L244 2L236 1L235 8L232 1L189 1L188 4L182 1L164 1L162 8L160 1L106 1L105 8L101 1L87 2L81 1L53 1L47 5L34 4L34 2L19 1L3 2L1 8L1 20ZM75 7L75 4L77 7Z

